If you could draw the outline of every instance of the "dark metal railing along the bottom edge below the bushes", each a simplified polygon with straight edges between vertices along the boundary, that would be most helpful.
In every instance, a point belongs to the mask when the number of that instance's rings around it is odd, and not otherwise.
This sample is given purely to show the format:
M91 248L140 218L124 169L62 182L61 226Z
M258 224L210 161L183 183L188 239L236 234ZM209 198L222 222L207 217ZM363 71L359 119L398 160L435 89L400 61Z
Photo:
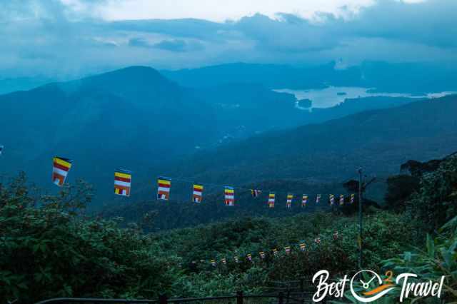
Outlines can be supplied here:
M238 291L236 295L228 295L221 297L207 297L207 298L167 298L166 295L159 296L157 300L127 300L127 299L101 299L101 298L54 298L49 300L44 300L36 304L67 304L67 303L81 303L81 304L99 304L99 303L116 303L116 304L168 304L168 303L201 303L209 301L221 301L221 300L236 300L236 304L248 304L248 303L258 303L251 302L251 300L271 300L277 299L278 304L288 303L288 296L283 292L280 293L271 293L263 295L244 295L243 292ZM246 301L245 301L246 300ZM233 303L233 301L231 301ZM263 303L263 302L262 302ZM269 302L271 303L271 302Z

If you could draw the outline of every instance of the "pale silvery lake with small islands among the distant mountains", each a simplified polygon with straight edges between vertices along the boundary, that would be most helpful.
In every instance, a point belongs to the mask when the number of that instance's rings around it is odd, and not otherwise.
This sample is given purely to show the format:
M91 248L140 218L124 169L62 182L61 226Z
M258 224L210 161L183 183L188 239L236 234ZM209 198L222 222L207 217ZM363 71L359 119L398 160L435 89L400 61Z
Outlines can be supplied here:
M297 99L309 99L313 101L313 108L330 108L342 103L346 98L371 97L371 96L391 96L391 97L410 97L410 98L437 98L456 92L428 93L427 95L417 96L410 93L382 93L369 92L371 88L361 88L357 86L329 86L328 88L310 90L292 90L290 88L275 89L279 93L291 93ZM298 105L297 105L298 107ZM299 108L299 107L298 107Z

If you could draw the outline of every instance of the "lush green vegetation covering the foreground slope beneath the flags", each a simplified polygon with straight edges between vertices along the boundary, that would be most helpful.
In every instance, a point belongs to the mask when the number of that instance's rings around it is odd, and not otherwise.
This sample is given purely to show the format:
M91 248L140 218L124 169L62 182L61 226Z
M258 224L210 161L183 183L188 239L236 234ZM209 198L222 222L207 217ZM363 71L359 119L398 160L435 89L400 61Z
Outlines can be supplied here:
M434 280L446 275L444 300L451 302L457 289L456 181L455 157L424 173L408 198L391 178L393 192L388 197L403 202L403 208L365 209L363 267L408 270ZM356 186L351 185L346 188ZM121 218L86 216L84 207L90 201L91 188L82 181L54 196L34 191L24 175L1 183L2 300L261 293L268 291L272 280L310 278L323 268L337 277L357 269L357 219L350 212L242 217L144 233L154 221L149 213L138 223L119 228ZM306 250L299 250L298 243L305 243ZM283 249L287 245L291 254ZM279 251L276 258L273 248ZM252 262L246 259L248 253ZM221 263L223 258L226 264ZM216 266L210 263L213 259Z

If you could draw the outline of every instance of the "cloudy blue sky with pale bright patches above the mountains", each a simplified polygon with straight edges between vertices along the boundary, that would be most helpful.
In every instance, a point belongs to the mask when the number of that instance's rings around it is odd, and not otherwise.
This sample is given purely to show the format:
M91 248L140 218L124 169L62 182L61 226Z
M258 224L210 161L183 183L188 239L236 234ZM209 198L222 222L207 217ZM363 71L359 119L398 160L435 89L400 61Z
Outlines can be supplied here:
M0 78L131 65L457 64L455 0L3 0Z

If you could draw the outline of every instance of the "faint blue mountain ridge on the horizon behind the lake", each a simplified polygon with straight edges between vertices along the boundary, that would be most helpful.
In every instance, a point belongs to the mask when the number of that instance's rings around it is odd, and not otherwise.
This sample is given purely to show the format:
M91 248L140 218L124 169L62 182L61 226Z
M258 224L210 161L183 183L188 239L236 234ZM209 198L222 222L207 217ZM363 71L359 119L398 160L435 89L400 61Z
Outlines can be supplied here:
M455 67L429 64L366 61L344 69L334 62L321 66L279 66L272 64L222 64L199 69L161 71L182 86L206 87L226 83L261 83L267 88L322 88L361 86L379 92L423 94L457 91Z

